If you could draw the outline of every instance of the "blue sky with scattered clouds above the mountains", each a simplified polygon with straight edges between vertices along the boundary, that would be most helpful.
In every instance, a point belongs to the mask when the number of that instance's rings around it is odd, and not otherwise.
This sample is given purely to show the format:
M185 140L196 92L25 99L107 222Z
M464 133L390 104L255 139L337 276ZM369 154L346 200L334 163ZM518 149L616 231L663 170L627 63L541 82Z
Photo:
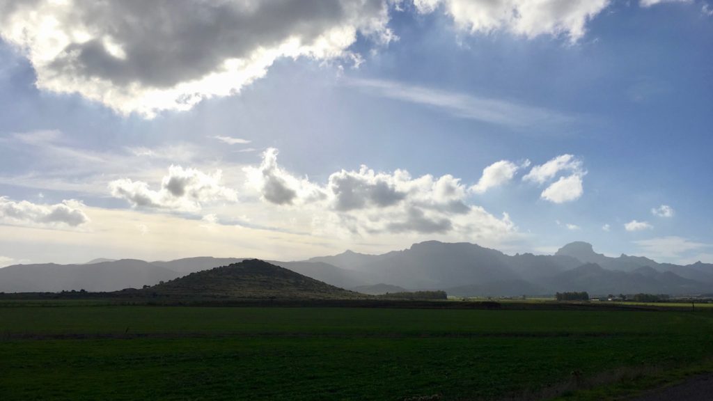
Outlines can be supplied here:
M0 266L713 263L709 0L0 0Z

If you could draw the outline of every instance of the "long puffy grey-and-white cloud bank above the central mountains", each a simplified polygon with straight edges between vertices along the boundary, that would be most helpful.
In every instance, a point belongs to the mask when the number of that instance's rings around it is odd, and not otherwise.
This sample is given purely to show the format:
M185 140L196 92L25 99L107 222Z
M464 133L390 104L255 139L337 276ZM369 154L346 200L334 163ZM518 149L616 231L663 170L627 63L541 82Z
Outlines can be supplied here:
M246 168L248 186L266 203L312 214L314 233L324 235L455 234L493 241L517 228L506 213L497 218L467 205L467 188L453 176L411 177L408 171L377 173L366 166L337 171L320 185L297 178L277 164L277 150Z

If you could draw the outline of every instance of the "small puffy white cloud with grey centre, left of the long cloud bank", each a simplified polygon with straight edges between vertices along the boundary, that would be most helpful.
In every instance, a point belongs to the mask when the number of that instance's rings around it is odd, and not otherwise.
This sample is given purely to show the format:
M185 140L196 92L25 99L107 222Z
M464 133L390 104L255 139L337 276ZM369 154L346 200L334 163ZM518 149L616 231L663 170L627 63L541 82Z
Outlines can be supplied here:
M158 191L150 189L148 183L130 178L111 181L108 187L112 196L128 200L135 208L195 212L202 208L203 203L215 200L237 202L235 190L222 186L221 181L220 170L209 175L194 168L172 165Z

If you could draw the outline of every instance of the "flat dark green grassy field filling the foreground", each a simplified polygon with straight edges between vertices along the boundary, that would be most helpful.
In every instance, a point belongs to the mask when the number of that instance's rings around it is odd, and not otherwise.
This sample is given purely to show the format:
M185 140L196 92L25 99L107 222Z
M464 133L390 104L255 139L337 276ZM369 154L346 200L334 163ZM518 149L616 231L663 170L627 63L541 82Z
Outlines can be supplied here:
M598 400L713 356L708 310L62 305L0 307L0 400Z

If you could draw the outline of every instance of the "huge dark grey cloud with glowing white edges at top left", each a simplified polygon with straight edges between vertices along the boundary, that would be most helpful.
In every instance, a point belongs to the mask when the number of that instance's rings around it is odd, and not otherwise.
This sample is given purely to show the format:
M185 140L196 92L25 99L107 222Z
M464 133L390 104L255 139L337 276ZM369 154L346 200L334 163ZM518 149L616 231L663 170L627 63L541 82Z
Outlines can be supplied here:
M384 0L0 2L0 37L36 85L154 116L230 96L276 59L352 59L358 36L394 39Z

